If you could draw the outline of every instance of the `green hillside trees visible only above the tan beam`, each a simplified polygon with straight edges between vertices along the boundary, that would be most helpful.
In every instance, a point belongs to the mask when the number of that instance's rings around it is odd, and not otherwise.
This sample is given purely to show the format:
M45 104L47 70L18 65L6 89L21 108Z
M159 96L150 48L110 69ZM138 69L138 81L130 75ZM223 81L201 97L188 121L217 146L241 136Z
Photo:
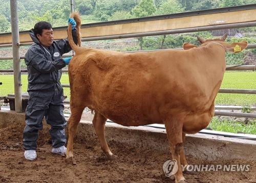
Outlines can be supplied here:
M170 14L256 3L256 0L75 0L83 23ZM67 25L70 0L18 0L19 30L45 20L53 27ZM10 32L10 1L0 1L0 33Z

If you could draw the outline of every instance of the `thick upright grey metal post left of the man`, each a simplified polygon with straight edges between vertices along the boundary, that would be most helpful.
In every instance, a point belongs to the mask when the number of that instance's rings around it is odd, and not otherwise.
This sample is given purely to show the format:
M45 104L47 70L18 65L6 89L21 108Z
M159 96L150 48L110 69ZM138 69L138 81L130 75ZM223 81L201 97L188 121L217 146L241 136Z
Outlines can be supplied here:
M18 32L17 0L10 0L10 5L11 5L12 55L13 55L15 112L21 113L22 112L22 81L21 81L20 56L19 56L19 32Z

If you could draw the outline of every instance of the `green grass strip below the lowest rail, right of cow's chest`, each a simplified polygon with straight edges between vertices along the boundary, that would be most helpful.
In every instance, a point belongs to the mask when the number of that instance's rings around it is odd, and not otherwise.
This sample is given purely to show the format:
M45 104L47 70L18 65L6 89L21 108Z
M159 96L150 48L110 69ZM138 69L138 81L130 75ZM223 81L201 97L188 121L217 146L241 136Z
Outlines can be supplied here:
M230 133L245 133L256 135L256 120L248 122L238 122L233 120L220 120L218 117L212 118L210 124L208 125L212 130L230 132Z

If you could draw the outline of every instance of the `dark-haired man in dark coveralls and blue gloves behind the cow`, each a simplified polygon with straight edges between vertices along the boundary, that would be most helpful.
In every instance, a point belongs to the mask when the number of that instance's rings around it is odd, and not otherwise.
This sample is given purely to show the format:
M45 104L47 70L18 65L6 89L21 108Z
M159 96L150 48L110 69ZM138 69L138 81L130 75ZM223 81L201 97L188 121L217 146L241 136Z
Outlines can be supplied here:
M76 22L72 24L72 36L77 43ZM42 129L42 119L45 117L51 125L52 152L66 154L65 127L67 122L63 116L63 89L60 84L61 68L69 64L72 57L62 58L71 50L69 41L53 40L52 25L45 21L35 24L30 30L33 44L25 55L28 68L28 106L26 108L26 126L23 132L25 159L36 159L36 141L38 130Z

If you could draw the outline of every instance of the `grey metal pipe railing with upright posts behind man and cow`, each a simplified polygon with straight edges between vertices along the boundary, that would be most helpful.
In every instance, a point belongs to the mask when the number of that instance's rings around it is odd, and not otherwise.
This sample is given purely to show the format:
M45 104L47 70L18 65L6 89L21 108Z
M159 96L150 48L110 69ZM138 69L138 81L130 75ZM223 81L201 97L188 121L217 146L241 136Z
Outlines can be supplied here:
M241 7L232 7L231 9L243 9L245 6ZM252 6L247 6L249 9L255 9L256 4ZM12 1L11 3L11 12L12 12L12 32L17 32L18 28L15 27L15 23L17 21L17 0ZM71 0L71 11L74 10L74 1ZM227 11L227 8L219 9L219 10L208 10L208 12L198 11L198 12L191 12L191 16L195 13L206 13L210 14L210 12L214 13L215 11ZM228 10L229 11L229 10ZM187 13L186 13L187 14ZM93 23L92 26L104 26L109 24L121 24L121 23L129 23L129 22L136 22L136 21L146 21L146 20L157 20L157 19L164 19L168 15L161 15L156 17L145 17L145 18L138 18L138 19L130 19L130 20L118 20L113 22L99 22ZM180 16L179 14L175 14L174 16ZM169 18L169 17L168 17ZM17 24L17 23L16 23ZM83 27L90 27L90 24L84 24ZM105 40L105 39L121 39L121 38L134 38L134 37L143 37L143 36L156 36L156 35L166 35L166 34L179 34L179 33L190 33L190 32L200 32L200 31L212 31L212 30L220 30L220 29L231 29L231 28L245 28L245 27L255 27L256 21L252 22L241 22L241 23L229 23L229 24L218 24L218 25L210 25L210 26L202 26L197 28L186 28L186 29L175 29L175 30L163 30L163 31L152 31L152 32L143 32L143 33L132 33L132 34L119 34L119 35L110 35L110 36L99 36L99 37L87 37L82 38L81 41L96 41L96 40ZM64 29L63 28L56 28L56 29ZM65 28L66 29L66 28ZM0 72L14 72L15 75L15 109L17 112L20 111L21 107L16 106L16 103L22 103L22 96L21 96L21 81L20 81L20 73L27 72L27 69L20 69L19 66L19 59L24 59L24 57L19 57L19 46L26 46L31 45L32 42L26 43L19 43L18 41L18 32L17 34L13 35L13 44L2 44L0 47L9 47L13 46L13 57L0 57L0 60L14 60L14 69L1 69ZM247 49L256 48L256 44L248 44ZM182 49L182 48L176 48ZM162 49L161 49L162 50ZM156 50L139 50L144 52L156 51ZM137 51L125 51L128 53L134 53ZM70 54L65 54L63 57L70 57ZM226 70L255 70L255 65L232 65L226 66ZM68 72L68 69L62 69L63 72ZM69 85L62 85L62 87L69 87ZM220 89L219 93L240 93L240 94L256 94L256 90L242 90L242 89ZM69 103L69 101L65 101L65 103ZM223 116L236 116L236 117L252 117L256 118L256 114L247 114L247 113L231 113L231 112L220 112L216 111L216 115L223 115Z

